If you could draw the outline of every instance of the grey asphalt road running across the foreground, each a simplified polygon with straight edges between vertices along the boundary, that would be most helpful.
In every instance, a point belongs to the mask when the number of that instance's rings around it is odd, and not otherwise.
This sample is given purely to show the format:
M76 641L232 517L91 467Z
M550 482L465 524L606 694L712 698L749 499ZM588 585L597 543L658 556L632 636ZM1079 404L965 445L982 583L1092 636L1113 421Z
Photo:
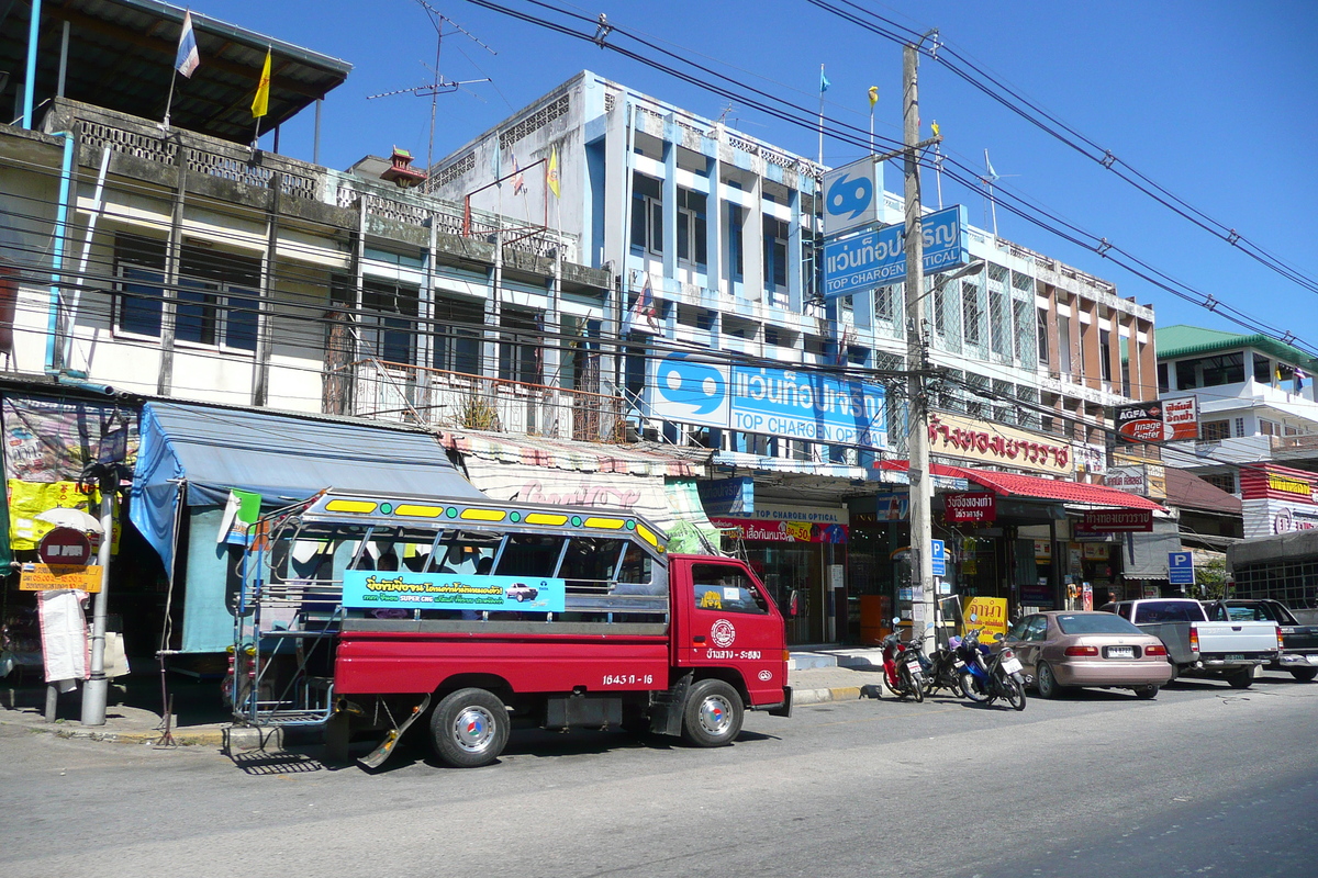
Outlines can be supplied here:
M0 727L0 875L1318 874L1318 683L751 715L731 748L521 733L498 765Z

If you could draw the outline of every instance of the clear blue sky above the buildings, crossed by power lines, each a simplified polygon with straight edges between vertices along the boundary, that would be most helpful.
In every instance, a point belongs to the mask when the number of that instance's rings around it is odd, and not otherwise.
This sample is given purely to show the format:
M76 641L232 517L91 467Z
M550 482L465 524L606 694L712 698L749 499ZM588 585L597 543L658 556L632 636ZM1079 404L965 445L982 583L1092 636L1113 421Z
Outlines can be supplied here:
M830 80L828 116L867 128L866 90L876 84L875 132L900 137L900 46L807 0L606 0L589 8L546 1L590 18L605 12L629 32L805 107L818 105L824 63ZM445 28L443 76L493 82L438 99L436 158L583 68L708 117L728 107L722 97L592 43L467 0L430 3L497 53ZM526 0L501 3L552 16ZM194 9L353 65L348 82L326 100L322 163L344 168L365 154L387 155L395 143L423 161L430 99L368 99L431 79L435 30L422 5L416 0L273 5L278 16L270 14L270 3L256 0L200 0ZM833 5L846 8L845 0ZM1318 286L1311 232L1318 200L1318 3L855 0L851 11L857 8L913 30L938 28L942 42L961 58ZM1251 320L1294 333L1301 346L1318 351L1318 294L1172 213L936 61L921 62L920 99L925 133L937 120L950 157L982 168L987 149L1002 175L999 186ZM308 111L286 125L283 153L311 158L312 118ZM799 154L817 151L813 130L753 108L734 103L726 118L733 128ZM844 165L861 153L825 141L828 165ZM895 170L887 172L886 187L900 191ZM936 200L933 174L925 172L924 192L927 201ZM982 191L944 180L942 197L945 204L966 204L971 222L991 226ZM1161 325L1248 332L1002 209L998 226L1003 237L1112 280L1120 295L1152 304Z

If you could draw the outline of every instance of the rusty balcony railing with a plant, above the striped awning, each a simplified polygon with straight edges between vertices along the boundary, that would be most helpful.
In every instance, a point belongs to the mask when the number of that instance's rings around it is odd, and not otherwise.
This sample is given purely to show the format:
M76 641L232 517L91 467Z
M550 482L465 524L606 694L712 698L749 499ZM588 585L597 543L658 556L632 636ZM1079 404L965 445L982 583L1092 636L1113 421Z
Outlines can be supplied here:
M351 382L330 375L328 413L356 415L435 429L473 429L583 442L626 441L626 405L608 396L547 384L362 359L343 367ZM340 374L341 374L340 373Z

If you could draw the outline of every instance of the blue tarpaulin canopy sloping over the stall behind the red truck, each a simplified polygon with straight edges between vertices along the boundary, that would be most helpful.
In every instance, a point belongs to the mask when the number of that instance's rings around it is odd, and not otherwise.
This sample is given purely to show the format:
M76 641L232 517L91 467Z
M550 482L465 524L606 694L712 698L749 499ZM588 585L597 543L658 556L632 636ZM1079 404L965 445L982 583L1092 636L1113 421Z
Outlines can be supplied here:
M240 488L278 507L327 487L485 499L431 433L215 405L142 405L129 517L166 570L181 495L190 507L215 507Z

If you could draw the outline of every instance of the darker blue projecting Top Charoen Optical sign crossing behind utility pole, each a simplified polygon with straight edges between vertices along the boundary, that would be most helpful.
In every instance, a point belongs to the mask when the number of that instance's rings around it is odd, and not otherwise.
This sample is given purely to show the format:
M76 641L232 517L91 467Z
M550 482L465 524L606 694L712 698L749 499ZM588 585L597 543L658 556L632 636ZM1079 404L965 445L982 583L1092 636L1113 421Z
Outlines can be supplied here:
M961 204L925 216L924 272L938 274L970 262L966 208ZM905 279L905 226L890 225L824 245L824 297L837 299Z

